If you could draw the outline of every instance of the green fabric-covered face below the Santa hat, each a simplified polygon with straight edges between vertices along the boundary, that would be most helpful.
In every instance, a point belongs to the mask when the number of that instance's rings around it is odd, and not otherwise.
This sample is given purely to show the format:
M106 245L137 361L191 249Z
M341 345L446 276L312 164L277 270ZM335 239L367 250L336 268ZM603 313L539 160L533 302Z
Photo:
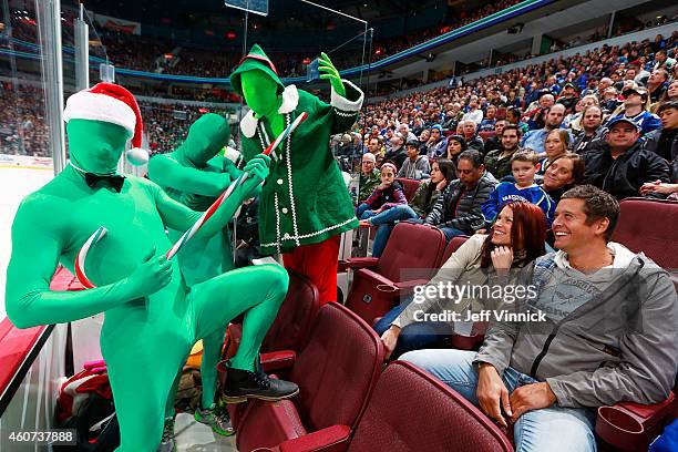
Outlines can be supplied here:
M66 124L71 162L94 174L115 173L129 140L127 131L102 121L71 120Z

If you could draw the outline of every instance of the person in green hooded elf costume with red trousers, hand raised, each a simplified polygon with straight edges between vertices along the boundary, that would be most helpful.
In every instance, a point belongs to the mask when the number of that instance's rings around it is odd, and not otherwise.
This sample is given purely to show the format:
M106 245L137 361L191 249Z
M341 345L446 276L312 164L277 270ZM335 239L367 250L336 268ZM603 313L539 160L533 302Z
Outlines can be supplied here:
M250 109L240 122L247 161L298 115L308 113L271 162L259 203L259 239L263 254L281 253L287 268L307 275L325 304L337 300L340 234L358 226L329 137L357 121L363 94L341 80L325 53L319 71L331 84L329 104L295 85L285 86L276 66L255 44L230 74L230 84Z

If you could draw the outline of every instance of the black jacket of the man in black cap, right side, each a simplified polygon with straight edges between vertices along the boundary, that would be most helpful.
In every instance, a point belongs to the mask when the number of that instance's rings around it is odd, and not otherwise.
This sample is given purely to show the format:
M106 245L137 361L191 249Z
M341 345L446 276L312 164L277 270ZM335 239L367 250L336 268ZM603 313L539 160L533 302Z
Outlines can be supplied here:
M669 165L657 154L644 150L643 143L636 143L616 160L612 157L609 145L584 154L586 173L584 181L612 194L617 199L640 196L639 189L646 182L669 182ZM648 195L664 197L662 195Z

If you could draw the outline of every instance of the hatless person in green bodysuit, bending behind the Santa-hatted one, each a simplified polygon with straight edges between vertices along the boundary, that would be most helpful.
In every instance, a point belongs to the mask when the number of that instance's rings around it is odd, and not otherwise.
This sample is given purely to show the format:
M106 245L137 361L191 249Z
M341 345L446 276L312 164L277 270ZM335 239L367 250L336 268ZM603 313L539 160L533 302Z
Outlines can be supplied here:
M171 198L197 212L205 212L242 171L219 154L230 136L228 122L215 113L201 116L188 130L188 136L174 152L154 155L148 162L148 178L160 185ZM179 239L183 230L170 229L170 239ZM177 254L179 268L188 287L232 270L233 250L228 228L205 239L192 239ZM225 331L203 339L201 376L202 401L197 421L212 427L215 433L230 435L228 412L215 405L216 364L222 355ZM181 372L179 372L181 376ZM178 382L178 379L177 379ZM175 383L176 384L176 383ZM176 392L174 389L173 392ZM166 408L163 442L174 438L174 403Z

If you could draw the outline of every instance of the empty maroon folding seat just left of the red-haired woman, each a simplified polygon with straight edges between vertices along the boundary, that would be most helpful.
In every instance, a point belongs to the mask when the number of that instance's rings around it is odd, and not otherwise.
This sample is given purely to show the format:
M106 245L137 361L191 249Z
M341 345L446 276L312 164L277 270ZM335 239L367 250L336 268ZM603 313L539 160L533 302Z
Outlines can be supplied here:
M410 295L414 286L431 279L440 265L444 247L445 236L440 229L399 223L381 257L356 261L349 259L348 266L356 271L346 306L372 325L402 296Z

